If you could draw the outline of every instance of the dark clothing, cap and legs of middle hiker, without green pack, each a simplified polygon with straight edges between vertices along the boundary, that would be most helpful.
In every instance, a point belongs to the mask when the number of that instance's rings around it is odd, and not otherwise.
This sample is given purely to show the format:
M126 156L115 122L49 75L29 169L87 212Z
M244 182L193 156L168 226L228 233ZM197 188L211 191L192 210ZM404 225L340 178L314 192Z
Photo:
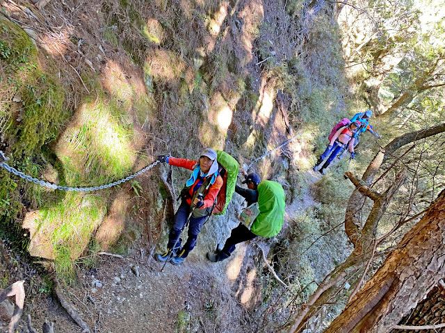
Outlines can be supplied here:
M261 182L261 178L257 175L257 173L250 173L243 171L243 175L245 180L243 184L248 185L248 189L243 189L236 185L235 191L237 194L243 196L247 201L248 206L252 205L252 203L256 203L258 201L258 185ZM239 225L232 230L230 237L225 241L224 247L220 250L219 253L209 252L207 253L207 259L211 262L219 262L221 260L227 259L230 257L230 254L234 252L235 246L238 243L243 241L248 241L250 239L254 239L257 237L257 234L251 232L243 223L239 223Z

